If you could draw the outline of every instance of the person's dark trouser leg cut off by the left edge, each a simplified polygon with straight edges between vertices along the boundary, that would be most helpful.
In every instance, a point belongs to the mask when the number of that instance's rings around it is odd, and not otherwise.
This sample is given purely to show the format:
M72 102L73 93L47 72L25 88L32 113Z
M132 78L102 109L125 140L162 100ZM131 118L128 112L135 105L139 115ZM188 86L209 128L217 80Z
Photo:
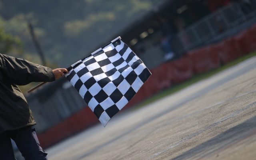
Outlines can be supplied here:
M15 160L8 132L0 134L0 160Z

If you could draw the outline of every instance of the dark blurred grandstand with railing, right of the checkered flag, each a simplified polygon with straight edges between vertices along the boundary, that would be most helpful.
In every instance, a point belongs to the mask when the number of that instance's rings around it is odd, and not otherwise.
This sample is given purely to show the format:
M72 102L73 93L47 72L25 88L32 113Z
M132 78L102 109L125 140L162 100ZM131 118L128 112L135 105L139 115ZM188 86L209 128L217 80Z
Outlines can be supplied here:
M163 63L165 53L161 40L166 34L172 37L170 46L173 59L177 59L190 50L219 42L255 23L255 0L251 4L229 0L183 2L163 3L122 34L149 68Z

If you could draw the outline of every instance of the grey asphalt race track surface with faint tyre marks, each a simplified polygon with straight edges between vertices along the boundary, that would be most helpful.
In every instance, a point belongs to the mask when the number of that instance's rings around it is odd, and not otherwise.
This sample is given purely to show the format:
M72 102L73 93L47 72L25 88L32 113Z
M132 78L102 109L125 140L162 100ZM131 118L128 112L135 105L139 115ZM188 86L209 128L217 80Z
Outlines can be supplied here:
M46 152L49 160L255 160L255 148L253 57Z

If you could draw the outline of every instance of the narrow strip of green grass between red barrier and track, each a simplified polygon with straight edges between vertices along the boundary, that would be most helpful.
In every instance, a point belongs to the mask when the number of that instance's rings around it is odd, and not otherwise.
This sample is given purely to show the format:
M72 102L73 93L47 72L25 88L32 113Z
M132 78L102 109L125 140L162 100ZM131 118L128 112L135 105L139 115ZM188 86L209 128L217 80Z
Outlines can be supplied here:
M165 90L162 90L160 92L158 92L157 94L155 94L154 96L150 97L150 98L147 98L146 100L144 100L143 102L139 103L138 105L134 106L134 109L138 109L142 106L145 106L147 104L150 104L160 98L163 98L165 96L168 96L170 94L173 94L175 92L178 92L179 90L182 90L183 88L186 88L187 86L190 86L191 84L194 84L200 80L203 80L205 78L208 78L218 72L221 72L227 68L230 68L231 66L234 66L248 58L251 58L253 56L256 56L256 52L252 52L251 54L247 54L245 56L242 56L236 60L233 60L232 62L229 62L228 64L225 64L223 66L220 66L218 68L215 68L213 70L210 70L208 72L205 72L205 73L201 73L201 74L196 74L194 76L192 76L192 78L180 83L180 84L176 84L176 85L173 85L173 86L170 86L170 88L167 88Z

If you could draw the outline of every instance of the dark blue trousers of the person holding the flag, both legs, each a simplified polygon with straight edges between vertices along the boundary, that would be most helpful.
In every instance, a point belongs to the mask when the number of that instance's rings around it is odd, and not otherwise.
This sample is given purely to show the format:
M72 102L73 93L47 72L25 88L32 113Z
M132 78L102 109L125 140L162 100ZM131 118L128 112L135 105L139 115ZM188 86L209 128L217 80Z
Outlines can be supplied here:
M25 160L47 160L31 126L9 130L0 134L0 160L15 160L11 139L14 140Z

